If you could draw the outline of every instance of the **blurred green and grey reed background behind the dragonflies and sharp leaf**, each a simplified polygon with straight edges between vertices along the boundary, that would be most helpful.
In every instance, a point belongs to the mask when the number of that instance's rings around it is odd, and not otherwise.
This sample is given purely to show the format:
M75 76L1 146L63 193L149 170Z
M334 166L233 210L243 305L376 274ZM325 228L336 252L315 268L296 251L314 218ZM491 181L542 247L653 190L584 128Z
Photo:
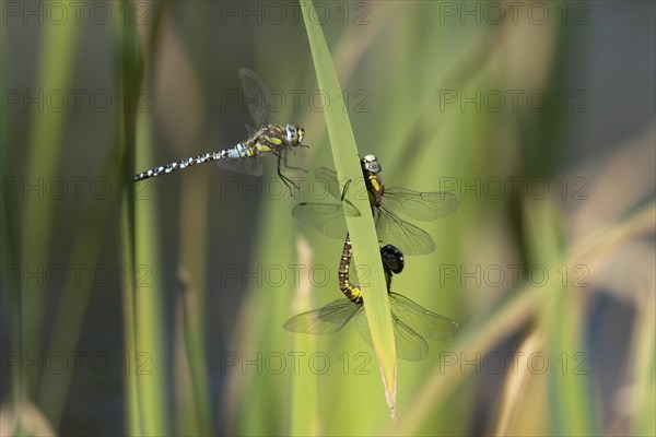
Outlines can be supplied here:
M94 3L96 4L96 3ZM654 435L653 2L2 3L1 435ZM333 167L343 104L389 187L453 191L393 290L462 338L399 362L389 418L317 201L203 165L246 135L238 68ZM331 201L326 199L326 201Z

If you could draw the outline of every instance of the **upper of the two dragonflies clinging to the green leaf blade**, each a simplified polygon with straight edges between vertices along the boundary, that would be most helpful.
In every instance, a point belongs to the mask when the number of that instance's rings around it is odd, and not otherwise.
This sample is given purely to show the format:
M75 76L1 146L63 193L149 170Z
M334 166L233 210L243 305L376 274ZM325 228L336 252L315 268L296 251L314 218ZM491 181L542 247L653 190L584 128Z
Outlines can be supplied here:
M360 163L378 238L394 244L406 255L433 252L436 249L433 238L397 214L409 215L424 222L440 220L458 210L460 206L458 198L447 191L419 192L406 188L386 188L379 175L383 168L375 155L366 155L360 160ZM319 167L315 170L315 177L335 198L344 198L333 170ZM342 204L304 202L294 206L292 216L326 236L342 239L348 232L344 203L348 206L350 202L342 202Z

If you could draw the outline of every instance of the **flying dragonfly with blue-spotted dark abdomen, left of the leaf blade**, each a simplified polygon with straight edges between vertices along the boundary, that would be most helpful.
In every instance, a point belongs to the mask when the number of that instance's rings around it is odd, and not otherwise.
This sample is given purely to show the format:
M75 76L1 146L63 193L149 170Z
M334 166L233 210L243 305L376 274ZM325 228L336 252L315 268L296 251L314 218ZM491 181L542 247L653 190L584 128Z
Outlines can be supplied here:
M307 147L303 144L305 130L296 125L271 125L271 107L267 103L269 91L260 78L250 70L239 69L239 81L244 91L244 98L248 105L248 111L258 129L246 125L248 139L231 149L210 152L196 157L177 161L167 165L151 168L133 177L134 181L167 175L196 164L215 162L220 167L244 173L253 176L262 174L262 155L273 155L278 158L278 176L291 191L291 186L298 186L281 173L281 165L290 169L300 169L292 166L288 161L289 152L295 153L297 147Z

